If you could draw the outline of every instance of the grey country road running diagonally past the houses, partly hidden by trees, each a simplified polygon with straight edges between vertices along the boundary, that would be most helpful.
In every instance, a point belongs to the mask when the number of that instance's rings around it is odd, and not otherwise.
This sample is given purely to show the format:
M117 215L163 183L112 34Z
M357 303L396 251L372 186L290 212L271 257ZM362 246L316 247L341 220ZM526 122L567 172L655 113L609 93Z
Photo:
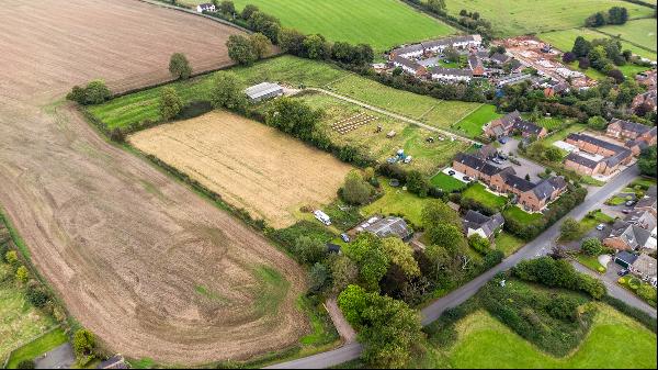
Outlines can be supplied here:
M639 176L637 166L634 165L628 167L622 173L605 183L605 186L599 188L597 191L590 192L585 202L571 210L565 217L574 217L577 220L585 217L589 211L600 208L611 194L622 190L637 176ZM565 217L561 220L565 220ZM427 326L431 324L439 318L444 311L455 307L468 300L498 272L508 270L521 260L544 256L551 251L554 246L554 240L559 236L561 220L548 227L544 233L540 234L540 236L519 249L515 254L506 258L498 266L423 309L421 311L422 325ZM354 343L331 351L294 361L277 363L265 369L326 369L358 359L360 354L361 346Z

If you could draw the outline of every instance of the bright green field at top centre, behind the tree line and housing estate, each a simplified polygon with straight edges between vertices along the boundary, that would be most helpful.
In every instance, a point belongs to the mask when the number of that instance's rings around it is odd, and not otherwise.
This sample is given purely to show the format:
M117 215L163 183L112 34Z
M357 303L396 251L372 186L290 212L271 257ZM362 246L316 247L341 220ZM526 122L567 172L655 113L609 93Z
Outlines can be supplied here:
M319 33L329 41L370 44L383 52L392 46L438 38L455 30L397 0L234 0L241 10L254 4L285 27Z

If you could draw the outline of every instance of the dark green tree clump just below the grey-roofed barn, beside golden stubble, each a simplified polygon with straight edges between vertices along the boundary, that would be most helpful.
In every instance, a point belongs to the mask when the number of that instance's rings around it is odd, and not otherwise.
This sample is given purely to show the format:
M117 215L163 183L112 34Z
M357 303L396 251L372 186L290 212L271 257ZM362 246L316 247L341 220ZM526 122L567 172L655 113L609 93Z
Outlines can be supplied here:
M314 137L322 111L314 110L300 100L280 98L265 113L268 125L276 127L303 141Z

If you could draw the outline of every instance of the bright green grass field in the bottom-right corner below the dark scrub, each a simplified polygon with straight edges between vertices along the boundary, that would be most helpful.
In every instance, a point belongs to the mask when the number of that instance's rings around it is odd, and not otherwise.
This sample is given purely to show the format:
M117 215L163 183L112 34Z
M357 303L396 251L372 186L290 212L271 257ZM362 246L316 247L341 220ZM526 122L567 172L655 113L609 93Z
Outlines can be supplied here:
M457 323L456 332L456 345L450 350L431 350L422 363L413 365L455 369L656 368L656 335L604 304L599 304L589 335L564 358L540 351L484 311Z

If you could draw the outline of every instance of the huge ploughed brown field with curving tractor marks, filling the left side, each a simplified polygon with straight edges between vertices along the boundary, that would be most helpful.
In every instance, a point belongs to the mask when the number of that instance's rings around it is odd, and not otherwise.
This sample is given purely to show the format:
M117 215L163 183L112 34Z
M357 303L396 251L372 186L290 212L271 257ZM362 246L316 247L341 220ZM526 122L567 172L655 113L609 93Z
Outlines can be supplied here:
M110 350L166 363L245 359L308 330L300 268L235 217L99 137L75 83L128 89L228 61L239 31L131 0L0 7L0 204L70 313Z

